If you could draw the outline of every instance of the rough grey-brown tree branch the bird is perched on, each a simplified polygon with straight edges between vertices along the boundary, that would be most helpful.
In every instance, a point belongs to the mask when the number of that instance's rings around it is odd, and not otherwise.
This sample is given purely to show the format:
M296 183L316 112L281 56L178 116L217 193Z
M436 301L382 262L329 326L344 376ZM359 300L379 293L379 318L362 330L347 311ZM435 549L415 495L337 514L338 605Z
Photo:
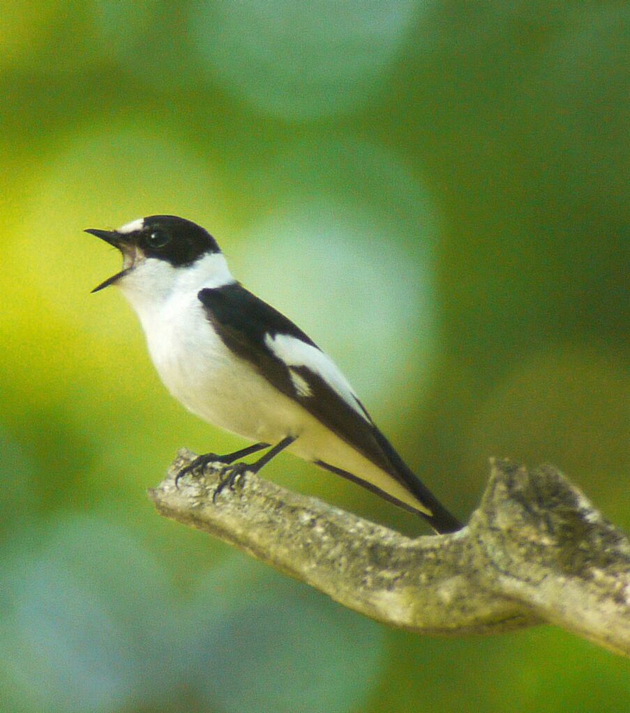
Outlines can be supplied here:
M492 461L469 524L405 535L248 473L213 503L220 468L149 491L158 512L204 530L352 610L421 634L564 627L630 656L630 542L551 466Z

